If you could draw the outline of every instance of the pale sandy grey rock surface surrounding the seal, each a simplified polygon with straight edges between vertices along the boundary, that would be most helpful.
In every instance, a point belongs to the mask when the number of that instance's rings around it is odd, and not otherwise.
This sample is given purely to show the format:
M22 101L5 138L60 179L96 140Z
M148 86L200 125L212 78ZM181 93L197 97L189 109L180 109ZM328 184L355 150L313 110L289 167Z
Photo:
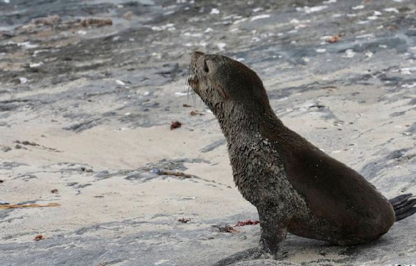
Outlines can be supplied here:
M257 246L259 224L218 229L257 212L185 87L196 50L248 64L288 127L386 197L416 193L415 1L1 0L0 199L59 204L0 209L1 265L210 265ZM415 228L354 247L289 235L281 260L238 265L415 264Z

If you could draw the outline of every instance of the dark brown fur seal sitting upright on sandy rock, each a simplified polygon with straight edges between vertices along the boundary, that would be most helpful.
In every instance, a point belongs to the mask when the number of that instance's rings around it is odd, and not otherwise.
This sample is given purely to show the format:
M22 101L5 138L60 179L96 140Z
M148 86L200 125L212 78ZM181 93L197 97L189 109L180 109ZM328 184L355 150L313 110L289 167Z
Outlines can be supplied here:
M335 245L369 242L416 213L411 194L389 201L358 172L288 129L257 73L241 62L196 51L188 83L218 118L234 182L257 207L268 253L277 254L287 232Z

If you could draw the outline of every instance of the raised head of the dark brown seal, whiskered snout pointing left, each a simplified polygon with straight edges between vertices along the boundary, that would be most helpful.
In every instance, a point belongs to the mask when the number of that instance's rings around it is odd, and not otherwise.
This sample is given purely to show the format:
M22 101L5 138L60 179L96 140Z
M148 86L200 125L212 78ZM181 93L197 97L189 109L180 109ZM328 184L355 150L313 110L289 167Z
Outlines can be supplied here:
M224 55L194 52L188 83L216 116L231 114L237 107L246 112L270 109L259 76Z

